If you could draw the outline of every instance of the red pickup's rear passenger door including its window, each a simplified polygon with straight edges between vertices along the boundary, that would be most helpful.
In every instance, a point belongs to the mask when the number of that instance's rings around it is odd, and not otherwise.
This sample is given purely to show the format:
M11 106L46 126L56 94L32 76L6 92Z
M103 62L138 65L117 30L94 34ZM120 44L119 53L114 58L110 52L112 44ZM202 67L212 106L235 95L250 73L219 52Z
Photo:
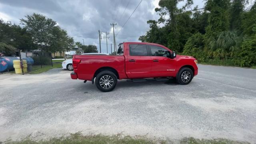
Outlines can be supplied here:
M126 74L128 78L150 78L151 57L148 56L146 44L128 44Z

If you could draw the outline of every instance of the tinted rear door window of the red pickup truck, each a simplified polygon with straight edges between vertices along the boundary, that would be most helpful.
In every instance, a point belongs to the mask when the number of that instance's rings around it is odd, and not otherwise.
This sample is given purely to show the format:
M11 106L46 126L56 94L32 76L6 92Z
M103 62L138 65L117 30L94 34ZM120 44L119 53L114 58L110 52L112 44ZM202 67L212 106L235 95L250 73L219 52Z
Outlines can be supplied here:
M129 44L130 56L147 56L146 44Z

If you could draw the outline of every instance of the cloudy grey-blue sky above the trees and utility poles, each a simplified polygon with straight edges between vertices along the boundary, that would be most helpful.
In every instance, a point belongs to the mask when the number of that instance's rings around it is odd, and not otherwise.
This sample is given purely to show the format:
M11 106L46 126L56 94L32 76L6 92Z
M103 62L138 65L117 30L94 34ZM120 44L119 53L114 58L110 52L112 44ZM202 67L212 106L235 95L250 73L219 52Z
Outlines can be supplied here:
M98 30L102 32L102 52L106 52L106 32L108 36L108 52L113 43L114 22L116 43L137 42L138 37L144 35L149 26L147 20L158 20L154 12L159 0L0 0L0 18L20 24L20 18L33 13L43 14L55 20L58 25L67 30L75 42L95 44L99 49ZM134 14L122 28L124 22ZM181 7L185 2L180 2ZM204 6L203 0L194 0L194 6ZM121 30L122 28L122 30Z

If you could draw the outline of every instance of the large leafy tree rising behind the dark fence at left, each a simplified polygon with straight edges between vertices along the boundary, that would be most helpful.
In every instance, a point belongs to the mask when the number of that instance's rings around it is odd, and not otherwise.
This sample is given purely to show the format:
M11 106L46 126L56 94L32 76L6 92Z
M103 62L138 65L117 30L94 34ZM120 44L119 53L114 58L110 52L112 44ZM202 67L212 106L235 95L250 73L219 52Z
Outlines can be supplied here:
M64 52L74 47L74 40L57 23L42 14L32 14L20 19L21 24L32 35L32 41L46 52Z

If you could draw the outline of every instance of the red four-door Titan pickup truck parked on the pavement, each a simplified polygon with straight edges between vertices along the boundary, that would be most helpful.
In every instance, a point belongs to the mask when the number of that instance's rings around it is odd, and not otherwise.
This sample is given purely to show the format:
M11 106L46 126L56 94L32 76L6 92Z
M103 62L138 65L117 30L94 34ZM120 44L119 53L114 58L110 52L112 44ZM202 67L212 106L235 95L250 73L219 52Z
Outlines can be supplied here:
M95 83L99 90L109 92L117 80L138 82L176 78L179 84L189 84L198 74L197 60L160 44L124 42L116 55L74 55L72 79Z

